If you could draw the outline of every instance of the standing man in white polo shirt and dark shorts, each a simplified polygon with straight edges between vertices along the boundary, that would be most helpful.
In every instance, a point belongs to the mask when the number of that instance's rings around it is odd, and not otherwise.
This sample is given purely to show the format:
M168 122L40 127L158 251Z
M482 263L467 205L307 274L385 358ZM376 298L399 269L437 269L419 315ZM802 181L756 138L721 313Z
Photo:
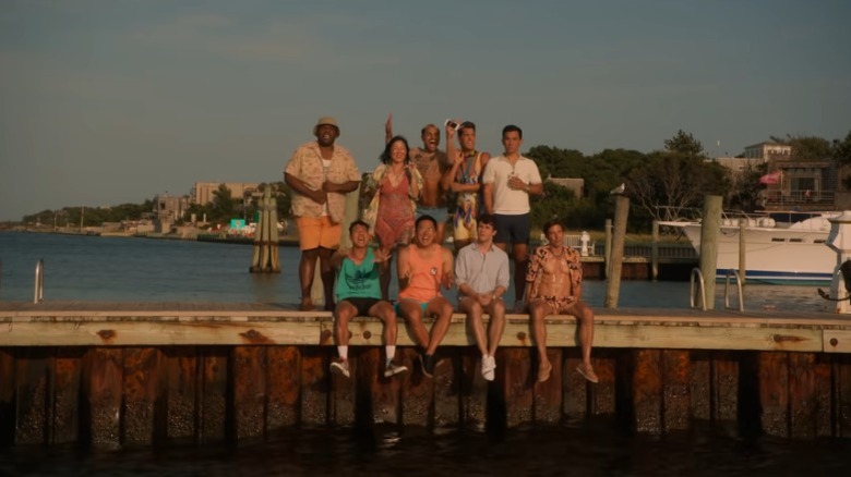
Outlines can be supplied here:
M538 164L520 155L523 130L510 124L502 129L505 152L491 158L484 168L484 209L493 215L496 225L494 243L503 250L512 244L514 260L514 311L520 313L526 288L526 265L531 228L529 196L543 194L543 181Z

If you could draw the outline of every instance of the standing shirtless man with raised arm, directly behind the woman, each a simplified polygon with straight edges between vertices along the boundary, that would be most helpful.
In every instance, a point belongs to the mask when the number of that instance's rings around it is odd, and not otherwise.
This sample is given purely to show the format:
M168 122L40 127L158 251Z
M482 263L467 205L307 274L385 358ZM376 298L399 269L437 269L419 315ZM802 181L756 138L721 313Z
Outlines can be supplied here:
M393 115L387 115L384 123L384 142L393 137ZM417 199L417 218L431 216L438 222L436 243L442 244L448 220L446 188L442 187L441 179L452 167L446 155L438 149L441 144L441 131L434 124L427 124L420 131L422 148L411 147L410 160L422 175L422 188Z

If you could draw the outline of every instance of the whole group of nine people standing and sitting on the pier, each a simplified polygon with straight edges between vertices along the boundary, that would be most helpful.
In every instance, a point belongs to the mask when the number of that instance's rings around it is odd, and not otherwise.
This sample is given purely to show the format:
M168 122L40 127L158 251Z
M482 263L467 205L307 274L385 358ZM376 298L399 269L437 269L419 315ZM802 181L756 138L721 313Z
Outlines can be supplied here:
M495 377L495 353L505 327L504 295L514 261L513 313L528 313L538 353L538 381L549 379L547 357L550 315L578 320L583 363L577 371L591 382L594 313L582 301L579 255L563 245L564 230L553 220L543 225L547 243L529 257L529 196L543 194L537 164L520 154L523 131L502 130L501 156L476 149L476 125L447 120L446 151L439 149L441 131L428 124L422 147L409 147L385 123L381 164L363 181L351 154L336 144L340 130L334 118L320 118L315 140L299 146L284 170L292 189L292 215L299 232L301 260L300 309L315 308L311 299L316 260L320 261L325 309L335 317L339 359L332 371L349 377L348 323L371 316L384 323L384 376L407 371L395 363L397 317L408 323L420 348L423 375L434 372L434 353L450 328L455 306L441 293L457 290L457 308L482 355L481 374ZM457 135L457 146L455 136ZM340 248L346 194L360 187L364 206L349 225L350 247ZM443 246L452 222L457 257ZM377 242L372 247L373 238ZM511 249L508 246L511 245ZM398 297L389 301L393 256L396 255ZM486 330L483 315L489 316ZM433 318L430 329L424 317Z

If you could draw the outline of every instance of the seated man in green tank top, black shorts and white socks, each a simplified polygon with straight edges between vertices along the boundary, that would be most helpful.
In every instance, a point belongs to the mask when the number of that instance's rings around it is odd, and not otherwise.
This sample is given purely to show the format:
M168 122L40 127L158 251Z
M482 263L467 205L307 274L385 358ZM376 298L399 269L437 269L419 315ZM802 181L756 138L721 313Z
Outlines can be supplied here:
M336 322L335 335L339 360L331 364L332 372L346 378L349 374L349 320L356 316L371 316L384 322L384 350L386 362L384 377L408 370L405 366L393 363L396 355L396 310L389 302L381 299L380 267L386 267L387 254L373 252L369 246L369 225L357 220L349 225L351 249L337 250L332 257L332 265L339 270L334 293L337 306L334 309Z

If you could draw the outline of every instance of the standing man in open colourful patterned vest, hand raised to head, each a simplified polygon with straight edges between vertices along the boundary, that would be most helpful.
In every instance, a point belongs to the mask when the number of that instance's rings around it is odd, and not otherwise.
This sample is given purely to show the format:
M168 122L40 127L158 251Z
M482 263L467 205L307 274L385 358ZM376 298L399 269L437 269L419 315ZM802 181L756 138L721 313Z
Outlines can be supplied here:
M453 136L457 127L460 150L455 148ZM481 203L481 174L491 158L488 152L476 150L476 124L465 121L446 124L446 156L452 168L443 175L443 188L457 194L453 215L455 250L476 241L476 216L483 209Z

